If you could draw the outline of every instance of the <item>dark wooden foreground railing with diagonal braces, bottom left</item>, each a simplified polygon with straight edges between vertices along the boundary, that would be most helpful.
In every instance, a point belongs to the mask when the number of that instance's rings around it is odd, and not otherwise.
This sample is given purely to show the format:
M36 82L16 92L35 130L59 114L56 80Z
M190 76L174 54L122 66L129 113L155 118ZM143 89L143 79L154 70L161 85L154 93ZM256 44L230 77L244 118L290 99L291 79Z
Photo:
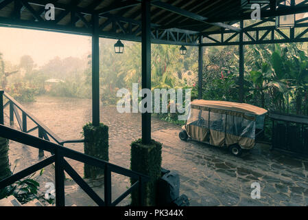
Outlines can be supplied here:
M0 100L1 101L1 100ZM0 124L0 136L7 138L9 140L14 140L21 144L26 144L34 148L38 148L42 151L48 151L51 153L51 157L43 159L42 161L34 164L24 170L21 170L19 173L16 173L6 179L0 181L0 189L5 188L13 184L15 181L23 179L28 175L48 166L49 164L55 164L55 187L56 187L56 206L65 206L65 193L64 193L64 171L67 172L72 179L86 192L86 194L97 203L98 206L117 206L120 201L125 199L133 190L139 190L139 203L143 205L143 195L142 187L145 181L149 180L149 177L128 170L121 166L115 164L110 164L102 159L97 159L84 153L78 151L73 151L69 148L66 148L60 144L55 144L47 140L43 140L39 137L34 137L22 131L17 131L8 126ZM91 166L96 166L99 168L104 168L104 200L97 195L97 193L84 181L80 175L74 170L74 168L67 162L65 157L74 159L78 162L84 164L89 164ZM111 173L118 173L137 181L130 187L126 192L124 192L117 199L112 201L111 195Z

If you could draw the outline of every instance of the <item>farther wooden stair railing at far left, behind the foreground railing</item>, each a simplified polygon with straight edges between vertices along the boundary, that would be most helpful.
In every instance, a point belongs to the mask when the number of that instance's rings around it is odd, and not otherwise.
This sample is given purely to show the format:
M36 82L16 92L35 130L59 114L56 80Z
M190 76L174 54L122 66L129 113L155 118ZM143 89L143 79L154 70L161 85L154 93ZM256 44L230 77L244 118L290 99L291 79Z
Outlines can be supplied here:
M6 98L8 101L3 104L3 98ZM0 124L4 124L4 109L5 107L10 107L10 125L14 124L14 115L16 116L16 120L19 124L19 128L21 131L25 133L30 133L38 129L38 137L43 138L45 140L54 140L57 144L63 145L67 143L80 143L84 142L84 140L62 140L58 135L52 132L43 122L40 122L32 113L29 113L19 102L14 100L9 94L5 91L0 91ZM19 110L21 111L21 115L19 114ZM27 128L27 119L32 120L34 124L36 124L33 128ZM50 137L50 138L49 138ZM44 156L44 151L39 150L38 155L40 157Z

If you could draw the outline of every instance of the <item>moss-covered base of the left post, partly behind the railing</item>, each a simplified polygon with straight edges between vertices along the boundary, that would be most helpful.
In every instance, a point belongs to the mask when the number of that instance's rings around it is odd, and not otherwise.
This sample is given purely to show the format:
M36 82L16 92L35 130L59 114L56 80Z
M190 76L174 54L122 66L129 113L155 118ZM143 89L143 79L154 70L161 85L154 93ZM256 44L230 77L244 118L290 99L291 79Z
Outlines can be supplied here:
M108 162L108 126L102 123L93 126L88 123L83 130L84 153ZM97 178L102 175L104 175L104 168L84 164L84 178Z

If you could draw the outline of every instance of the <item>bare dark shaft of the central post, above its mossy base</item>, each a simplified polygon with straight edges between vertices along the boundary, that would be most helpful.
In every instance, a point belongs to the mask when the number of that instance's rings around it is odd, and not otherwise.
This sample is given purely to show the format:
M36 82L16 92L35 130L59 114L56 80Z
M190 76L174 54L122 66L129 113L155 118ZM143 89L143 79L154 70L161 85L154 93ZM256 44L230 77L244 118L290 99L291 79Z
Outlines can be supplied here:
M142 89L151 89L151 26L150 1L141 2L142 12ZM145 97L143 97L145 98ZM151 113L142 113L142 142L150 144L151 141Z

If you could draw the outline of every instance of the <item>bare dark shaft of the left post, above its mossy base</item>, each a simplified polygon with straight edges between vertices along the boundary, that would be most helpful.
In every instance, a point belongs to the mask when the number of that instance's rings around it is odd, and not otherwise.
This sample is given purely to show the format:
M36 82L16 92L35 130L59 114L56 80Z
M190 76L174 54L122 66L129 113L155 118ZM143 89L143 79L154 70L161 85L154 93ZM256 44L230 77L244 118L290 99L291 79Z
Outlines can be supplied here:
M99 125L99 17L92 15L92 122Z

